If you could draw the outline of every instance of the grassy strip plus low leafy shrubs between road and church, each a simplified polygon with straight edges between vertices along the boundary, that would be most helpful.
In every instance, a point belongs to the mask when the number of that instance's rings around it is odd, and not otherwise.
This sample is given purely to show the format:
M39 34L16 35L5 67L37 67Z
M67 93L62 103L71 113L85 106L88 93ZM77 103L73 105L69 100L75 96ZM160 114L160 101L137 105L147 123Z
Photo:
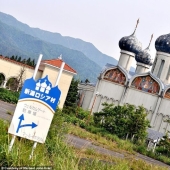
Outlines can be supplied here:
M78 114L79 118L77 116ZM83 114L83 118L80 116L81 114ZM88 111L80 109L80 112L76 110L76 114L73 112L67 112L67 114L65 114L64 112L63 117L66 122L71 123L69 133L91 140L95 145L100 145L117 152L126 152L127 154L139 152L170 165L169 157L160 154L157 152L157 149L155 153L147 151L144 140L135 140L135 142L132 142L130 140L120 139L117 135L111 134L105 128L97 126L93 121L93 116L91 116Z

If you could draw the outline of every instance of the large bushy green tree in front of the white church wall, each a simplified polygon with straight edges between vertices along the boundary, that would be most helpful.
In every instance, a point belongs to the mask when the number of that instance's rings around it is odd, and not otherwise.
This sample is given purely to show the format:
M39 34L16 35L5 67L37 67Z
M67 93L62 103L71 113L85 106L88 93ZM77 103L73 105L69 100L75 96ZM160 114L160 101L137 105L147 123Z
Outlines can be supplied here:
M94 122L97 126L105 128L112 134L121 138L130 136L135 139L144 139L149 121L146 119L145 109L138 109L133 105L115 106L104 103L104 108L94 113Z

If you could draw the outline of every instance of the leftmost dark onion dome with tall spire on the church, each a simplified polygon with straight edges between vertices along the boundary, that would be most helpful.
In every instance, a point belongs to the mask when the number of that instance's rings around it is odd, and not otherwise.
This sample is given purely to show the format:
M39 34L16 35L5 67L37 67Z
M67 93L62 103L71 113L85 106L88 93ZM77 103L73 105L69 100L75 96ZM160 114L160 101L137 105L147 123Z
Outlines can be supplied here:
M135 30L132 35L126 36L120 39L119 47L121 50L129 51L132 53L137 53L138 51L142 50L142 44L135 36L136 28L138 26L139 19L137 20L137 24Z

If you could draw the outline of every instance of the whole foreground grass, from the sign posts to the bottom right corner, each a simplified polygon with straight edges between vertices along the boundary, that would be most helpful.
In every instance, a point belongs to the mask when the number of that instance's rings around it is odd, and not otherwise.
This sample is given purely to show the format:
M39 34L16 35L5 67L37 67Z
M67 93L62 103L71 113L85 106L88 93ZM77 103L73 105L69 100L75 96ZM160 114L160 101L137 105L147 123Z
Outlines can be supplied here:
M16 138L12 151L8 152L11 135L9 123L0 120L0 166L52 166L54 170L166 170L140 160L116 159L89 150L76 150L64 142L69 126L63 122L61 111L53 119L45 144L38 144L29 159L33 142ZM86 158L82 161L82 158Z

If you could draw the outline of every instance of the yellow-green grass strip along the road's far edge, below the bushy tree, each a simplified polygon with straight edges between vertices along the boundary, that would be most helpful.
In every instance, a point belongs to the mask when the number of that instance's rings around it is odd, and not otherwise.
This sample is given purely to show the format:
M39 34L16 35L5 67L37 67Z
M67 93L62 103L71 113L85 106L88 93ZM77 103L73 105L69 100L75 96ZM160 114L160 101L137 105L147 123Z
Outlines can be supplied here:
M122 140L118 138L116 135L111 134L105 134L101 136L100 134L93 134L85 129L82 129L78 126L70 124L69 127L69 133L79 136L81 138L87 139L92 141L93 144L119 152L123 153L124 155L135 155L136 152L139 152L143 155L149 156L153 159L159 160L161 162L166 163L167 165L170 165L170 159L164 155L157 155L153 153L152 151L147 151L147 146L145 144L133 144L130 141Z

